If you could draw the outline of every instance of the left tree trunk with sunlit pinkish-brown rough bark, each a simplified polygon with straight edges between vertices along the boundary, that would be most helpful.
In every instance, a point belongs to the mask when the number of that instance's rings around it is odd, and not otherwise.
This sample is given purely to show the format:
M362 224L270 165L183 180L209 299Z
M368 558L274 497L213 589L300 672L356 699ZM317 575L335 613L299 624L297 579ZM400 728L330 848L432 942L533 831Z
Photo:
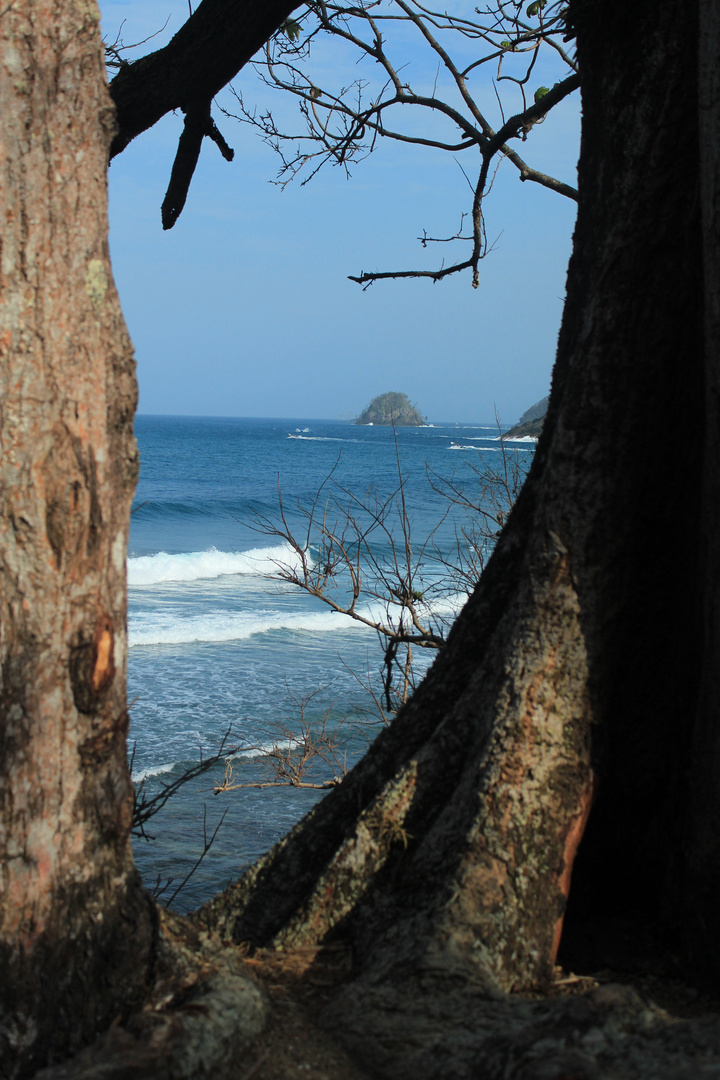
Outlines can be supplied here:
M108 259L96 5L2 4L0 49L0 1072L14 1076L142 1001L153 917L130 849L136 382Z

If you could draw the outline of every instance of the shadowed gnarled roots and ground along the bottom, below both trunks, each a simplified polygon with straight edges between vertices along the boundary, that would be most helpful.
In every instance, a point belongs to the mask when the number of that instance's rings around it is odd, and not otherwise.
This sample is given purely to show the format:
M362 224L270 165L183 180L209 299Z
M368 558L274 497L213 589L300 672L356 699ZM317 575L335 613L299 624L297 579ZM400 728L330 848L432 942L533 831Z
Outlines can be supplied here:
M696 1015L674 1014L693 991L667 980L636 988L570 975L546 996L489 1000L460 976L353 978L340 948L246 962L186 919L160 918L142 1011L37 1080L289 1080L299 1068L307 1080L720 1078L719 1003L697 998Z

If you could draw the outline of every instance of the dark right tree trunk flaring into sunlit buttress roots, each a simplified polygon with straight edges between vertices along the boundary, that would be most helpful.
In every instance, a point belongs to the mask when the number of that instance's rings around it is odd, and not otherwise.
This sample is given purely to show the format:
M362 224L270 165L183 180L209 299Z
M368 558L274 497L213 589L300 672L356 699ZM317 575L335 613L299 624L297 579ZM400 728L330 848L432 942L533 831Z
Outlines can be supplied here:
M637 963L658 943L667 956L693 917L683 847L695 827L705 453L696 10L576 0L570 11L579 217L529 481L392 728L198 916L257 945L347 942L376 981L462 975L486 993L546 982L588 814L568 916L575 957ZM668 421L678 437L658 445ZM703 572L717 579L717 564ZM717 932L712 888L704 910Z

